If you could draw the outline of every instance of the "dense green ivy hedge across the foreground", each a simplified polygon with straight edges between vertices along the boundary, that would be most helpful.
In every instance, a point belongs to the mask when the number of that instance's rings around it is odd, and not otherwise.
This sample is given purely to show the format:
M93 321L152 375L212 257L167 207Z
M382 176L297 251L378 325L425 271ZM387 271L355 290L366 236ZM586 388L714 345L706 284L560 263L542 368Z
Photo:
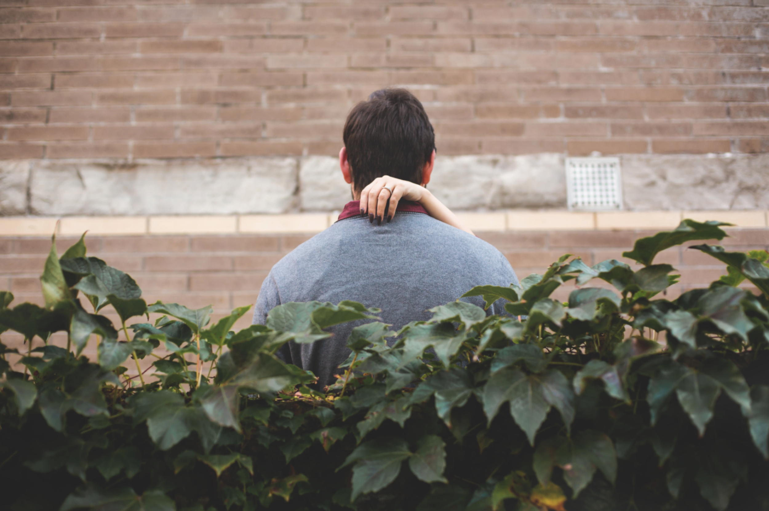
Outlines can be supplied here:
M398 331L343 301L232 332L248 307L211 324L211 307L148 305L82 238L52 245L45 307L0 293L0 333L25 337L15 369L0 343L0 507L769 509L769 254L689 247L727 274L675 300L674 268L654 264L723 225L638 240L623 254L637 271L564 256L464 295L509 316L455 301ZM568 302L552 299L568 280ZM275 357L356 320L327 389Z

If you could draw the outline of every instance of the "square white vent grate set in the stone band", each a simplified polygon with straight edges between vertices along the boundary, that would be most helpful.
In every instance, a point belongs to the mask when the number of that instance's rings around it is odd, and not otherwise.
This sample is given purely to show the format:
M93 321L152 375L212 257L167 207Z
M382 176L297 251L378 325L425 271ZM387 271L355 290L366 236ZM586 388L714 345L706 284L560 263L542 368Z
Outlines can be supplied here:
M566 189L570 210L621 210L620 159L566 158Z

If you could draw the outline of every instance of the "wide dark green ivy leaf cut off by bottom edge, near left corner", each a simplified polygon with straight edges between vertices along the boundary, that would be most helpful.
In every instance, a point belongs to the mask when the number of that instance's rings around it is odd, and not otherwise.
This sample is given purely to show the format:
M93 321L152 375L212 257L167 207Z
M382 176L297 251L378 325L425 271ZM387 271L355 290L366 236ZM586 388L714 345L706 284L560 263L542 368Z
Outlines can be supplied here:
M175 511L174 501L157 489L150 489L141 496L130 487L98 489L88 486L75 490L68 496L59 511L90 509L91 511Z

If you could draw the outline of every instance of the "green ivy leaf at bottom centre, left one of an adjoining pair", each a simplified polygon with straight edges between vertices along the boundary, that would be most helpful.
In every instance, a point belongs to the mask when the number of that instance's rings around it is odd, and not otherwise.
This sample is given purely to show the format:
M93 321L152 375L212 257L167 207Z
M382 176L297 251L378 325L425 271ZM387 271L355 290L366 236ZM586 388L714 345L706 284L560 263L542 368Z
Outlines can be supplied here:
M401 463L411 456L408 443L391 436L371 440L358 446L345 460L352 468L352 495L355 501L364 493L378 492L392 483L401 472Z

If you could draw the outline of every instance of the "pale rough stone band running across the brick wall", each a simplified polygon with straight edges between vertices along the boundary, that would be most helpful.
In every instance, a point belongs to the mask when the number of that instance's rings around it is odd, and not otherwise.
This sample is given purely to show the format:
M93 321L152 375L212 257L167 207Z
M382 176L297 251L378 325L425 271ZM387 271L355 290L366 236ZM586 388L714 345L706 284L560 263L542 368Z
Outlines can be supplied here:
M769 154L626 154L627 211L769 208ZM564 209L562 154L439 157L430 190L456 211ZM160 216L338 211L337 158L0 161L0 216Z

